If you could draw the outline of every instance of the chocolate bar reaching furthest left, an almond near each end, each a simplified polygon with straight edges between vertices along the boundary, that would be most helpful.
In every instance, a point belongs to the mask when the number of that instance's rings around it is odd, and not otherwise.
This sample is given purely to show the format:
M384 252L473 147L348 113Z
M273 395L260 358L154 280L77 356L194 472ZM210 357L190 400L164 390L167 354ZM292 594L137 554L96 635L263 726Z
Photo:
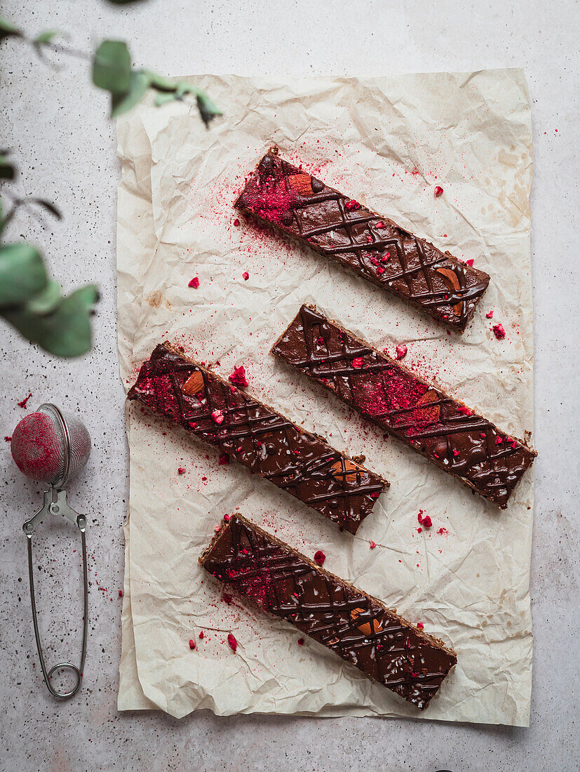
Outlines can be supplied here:
M322 437L305 432L170 344L153 350L128 397L167 415L350 533L356 533L389 487Z

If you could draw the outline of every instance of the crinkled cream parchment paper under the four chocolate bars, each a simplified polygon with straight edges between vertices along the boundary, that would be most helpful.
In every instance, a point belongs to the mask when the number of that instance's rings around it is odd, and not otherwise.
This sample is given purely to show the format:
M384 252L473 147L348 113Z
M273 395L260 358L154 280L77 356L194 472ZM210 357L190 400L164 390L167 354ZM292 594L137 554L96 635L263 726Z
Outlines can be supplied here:
M406 343L406 364L508 432L531 430L523 72L193 80L224 110L210 130L185 103L144 105L118 124L123 381L130 385L165 339L225 376L243 363L251 394L336 448L363 453L392 486L353 538L243 467L219 466L212 449L130 405L120 709L527 725L532 473L508 510L495 510L269 354L300 304L315 302L376 347L393 352ZM273 141L284 157L491 274L463 337L313 252L243 219L234 226L232 202ZM444 189L440 198L435 185ZM187 286L193 276L198 289ZM505 340L491 333L491 309ZM454 646L459 663L425 713L308 638L297 645L298 632L284 622L224 602L197 558L221 516L238 508L307 555L322 549L330 571ZM431 530L417 532L419 510L431 516Z

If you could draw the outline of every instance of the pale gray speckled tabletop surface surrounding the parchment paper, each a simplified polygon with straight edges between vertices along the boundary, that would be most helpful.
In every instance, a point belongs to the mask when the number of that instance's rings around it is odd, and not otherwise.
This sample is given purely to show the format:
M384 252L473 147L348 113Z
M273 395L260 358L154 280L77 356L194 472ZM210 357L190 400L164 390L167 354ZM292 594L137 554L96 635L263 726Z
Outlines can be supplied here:
M150 0L114 8L99 0L5 0L2 14L31 33L66 29L89 50L102 37L129 39L136 63L169 74L195 72L386 73L524 66L534 124L532 198L537 505L532 557L534 688L529 730L399 720L312 720L196 713L116 712L123 576L121 527L127 457L117 371L114 229L117 163L106 97L85 63L39 63L22 42L2 44L2 145L21 175L15 189L46 196L62 222L12 225L45 249L67 288L97 280L102 292L93 352L57 361L2 327L0 434L30 406L53 400L79 410L93 435L86 472L69 501L89 515L89 655L83 690L56 704L40 680L30 618L21 526L41 503L2 443L0 765L4 770L574 770L578 768L578 3L541 0L470 4L420 0L271 3ZM483 7L485 6L485 7ZM355 13L356 12L356 13ZM347 35L350 38L347 40ZM393 45L393 41L396 43ZM404 42L404 46L402 45ZM556 129L558 131L556 131ZM576 228L577 232L577 228ZM569 320L574 320L570 323ZM35 543L46 655L76 659L79 552L74 532L53 520ZM73 553L73 549L77 549ZM51 605L55 607L52 618Z

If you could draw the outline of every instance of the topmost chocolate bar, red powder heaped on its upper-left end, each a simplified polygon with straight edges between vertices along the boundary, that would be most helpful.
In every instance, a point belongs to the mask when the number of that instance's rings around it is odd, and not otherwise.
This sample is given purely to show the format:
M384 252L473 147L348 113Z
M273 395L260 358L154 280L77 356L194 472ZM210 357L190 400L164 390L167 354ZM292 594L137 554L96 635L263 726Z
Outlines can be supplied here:
M235 207L463 332L487 273L441 252L386 217L278 157L251 174Z

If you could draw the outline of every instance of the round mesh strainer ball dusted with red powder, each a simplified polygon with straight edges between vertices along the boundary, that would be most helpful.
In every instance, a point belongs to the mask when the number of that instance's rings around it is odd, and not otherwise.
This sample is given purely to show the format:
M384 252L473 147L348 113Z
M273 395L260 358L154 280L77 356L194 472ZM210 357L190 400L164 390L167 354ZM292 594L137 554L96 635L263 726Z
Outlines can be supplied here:
M12 434L12 458L22 474L56 488L66 486L83 469L90 449L83 422L55 405L40 405Z

